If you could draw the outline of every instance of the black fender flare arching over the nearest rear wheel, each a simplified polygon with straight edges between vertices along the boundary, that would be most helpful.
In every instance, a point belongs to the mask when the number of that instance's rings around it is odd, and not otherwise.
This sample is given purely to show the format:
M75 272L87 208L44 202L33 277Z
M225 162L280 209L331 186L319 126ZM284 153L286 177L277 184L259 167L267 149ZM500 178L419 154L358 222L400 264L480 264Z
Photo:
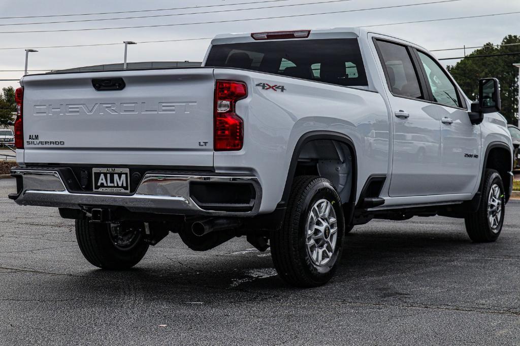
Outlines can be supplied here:
M353 174L352 174L352 190L350 192L350 201L348 204L352 203L354 206L355 199L357 195L357 153L356 153L356 147L354 145L354 141L350 139L350 137L341 134L340 132L334 132L334 131L310 131L306 132L304 135L298 139L296 142L296 146L294 147L294 151L291 157L291 164L289 165L289 171L287 172L287 178L285 179L285 187L283 189L282 199L278 203L277 208L285 208L287 207L287 202L289 201L289 194L291 193L291 186L293 183L294 174L296 171L296 166L298 164L298 157L300 156L300 153L302 152L302 148L305 144L307 144L310 141L315 140L334 140L340 143L343 143L347 145L348 149L350 149L350 152L352 153L352 167L353 167ZM354 208L352 208L354 209Z

